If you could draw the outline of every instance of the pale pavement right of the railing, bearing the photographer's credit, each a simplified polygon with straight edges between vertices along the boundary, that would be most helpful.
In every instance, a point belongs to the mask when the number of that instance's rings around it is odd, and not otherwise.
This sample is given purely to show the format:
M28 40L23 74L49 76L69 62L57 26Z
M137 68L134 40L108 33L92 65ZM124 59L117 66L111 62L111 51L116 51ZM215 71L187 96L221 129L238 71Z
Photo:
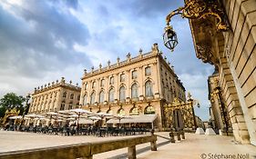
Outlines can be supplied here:
M256 159L256 146L236 144L233 137L186 134L186 140L166 144L157 152L138 154L138 159Z

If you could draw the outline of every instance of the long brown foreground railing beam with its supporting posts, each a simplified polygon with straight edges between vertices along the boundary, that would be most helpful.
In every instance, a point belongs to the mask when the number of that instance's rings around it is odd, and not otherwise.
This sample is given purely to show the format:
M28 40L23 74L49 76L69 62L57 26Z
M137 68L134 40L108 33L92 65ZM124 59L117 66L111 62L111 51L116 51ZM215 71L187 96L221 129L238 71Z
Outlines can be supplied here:
M157 136L152 134L152 135L129 137L124 139L104 141L104 142L85 143L85 144L68 144L68 145L55 146L55 147L7 152L7 153L1 153L0 158L1 159L42 159L42 158L92 159L94 154L100 154L100 153L128 147L128 159L135 159L137 144L150 143L151 151L157 151L156 141L157 141Z

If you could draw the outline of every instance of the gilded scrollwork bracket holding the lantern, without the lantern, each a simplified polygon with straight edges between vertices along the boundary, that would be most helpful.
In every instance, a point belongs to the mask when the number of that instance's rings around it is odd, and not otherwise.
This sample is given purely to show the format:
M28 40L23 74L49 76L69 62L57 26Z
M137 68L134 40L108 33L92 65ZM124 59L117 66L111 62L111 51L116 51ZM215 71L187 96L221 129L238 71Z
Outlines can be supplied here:
M166 22L169 25L170 19L174 15L181 15L189 19L201 19L208 16L215 16L217 19L216 28L219 31L229 30L229 24L225 20L226 15L221 9L218 0L190 0L183 7L172 11L167 15Z

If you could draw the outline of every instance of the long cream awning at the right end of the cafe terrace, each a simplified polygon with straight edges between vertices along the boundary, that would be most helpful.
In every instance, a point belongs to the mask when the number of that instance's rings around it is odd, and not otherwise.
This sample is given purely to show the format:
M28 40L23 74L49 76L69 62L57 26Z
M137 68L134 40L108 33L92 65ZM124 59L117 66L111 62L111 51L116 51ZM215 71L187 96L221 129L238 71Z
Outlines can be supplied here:
M109 119L107 124L153 123L158 117L158 114L141 114L130 117L121 119L120 121L118 119Z

